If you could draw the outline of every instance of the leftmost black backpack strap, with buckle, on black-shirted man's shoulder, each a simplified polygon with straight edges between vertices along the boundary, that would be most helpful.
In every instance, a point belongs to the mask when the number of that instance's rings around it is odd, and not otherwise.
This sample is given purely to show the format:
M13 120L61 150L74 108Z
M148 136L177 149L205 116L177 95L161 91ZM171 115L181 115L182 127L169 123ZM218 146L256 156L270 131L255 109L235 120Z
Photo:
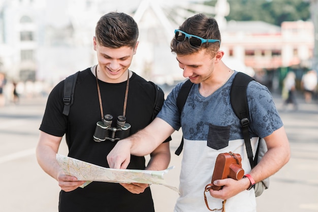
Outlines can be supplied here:
M70 107L74 102L74 90L75 90L75 84L76 84L76 79L77 79L78 73L79 72L67 77L64 81L63 114L66 116L69 115Z

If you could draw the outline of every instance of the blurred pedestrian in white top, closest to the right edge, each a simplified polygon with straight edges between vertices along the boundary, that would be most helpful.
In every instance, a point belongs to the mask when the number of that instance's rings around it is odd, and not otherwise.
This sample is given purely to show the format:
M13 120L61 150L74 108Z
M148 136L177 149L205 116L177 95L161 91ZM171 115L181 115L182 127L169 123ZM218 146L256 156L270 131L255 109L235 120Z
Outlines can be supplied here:
M310 103L317 89L317 73L315 70L309 70L304 74L301 80L301 87L304 90L306 103Z

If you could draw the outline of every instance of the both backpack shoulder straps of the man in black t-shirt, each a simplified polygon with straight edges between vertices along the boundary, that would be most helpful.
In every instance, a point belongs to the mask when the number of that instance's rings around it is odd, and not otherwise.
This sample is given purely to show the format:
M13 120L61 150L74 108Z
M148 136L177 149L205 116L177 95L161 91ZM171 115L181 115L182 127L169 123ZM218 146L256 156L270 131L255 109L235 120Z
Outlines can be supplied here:
M67 77L64 81L64 93L63 93L63 102L64 102L64 108L63 108L63 114L68 116L70 113L71 105L74 102L74 90L75 90L75 84L77 80L79 72L70 75ZM154 105L153 105L153 114L152 114L152 120L155 118L155 116L160 112L162 106L158 105L158 102L162 102L163 99L165 99L165 94L162 91L162 89L154 84L153 82L149 81L155 90L155 99L154 99Z

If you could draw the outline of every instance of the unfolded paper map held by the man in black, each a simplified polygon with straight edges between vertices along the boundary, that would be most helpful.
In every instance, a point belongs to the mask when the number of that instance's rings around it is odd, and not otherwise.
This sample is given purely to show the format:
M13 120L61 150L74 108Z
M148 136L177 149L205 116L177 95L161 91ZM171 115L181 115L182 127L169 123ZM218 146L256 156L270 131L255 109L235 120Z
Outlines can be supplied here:
M63 171L76 176L79 181L86 181L85 187L92 181L109 183L144 183L166 186L176 192L176 187L167 185L164 175L173 169L174 166L162 171L137 170L137 169L113 169L87 163L75 158L56 154L56 160Z

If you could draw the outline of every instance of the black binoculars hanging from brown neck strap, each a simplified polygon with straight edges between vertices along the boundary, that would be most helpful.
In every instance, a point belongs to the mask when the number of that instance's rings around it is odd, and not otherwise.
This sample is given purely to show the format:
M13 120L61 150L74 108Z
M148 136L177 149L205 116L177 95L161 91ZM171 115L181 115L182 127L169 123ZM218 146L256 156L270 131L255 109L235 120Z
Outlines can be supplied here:
M131 125L126 123L124 116L117 117L117 126L112 127L113 116L105 115L103 121L96 123L96 129L93 135L95 142L105 142L110 140L115 142L129 136Z

